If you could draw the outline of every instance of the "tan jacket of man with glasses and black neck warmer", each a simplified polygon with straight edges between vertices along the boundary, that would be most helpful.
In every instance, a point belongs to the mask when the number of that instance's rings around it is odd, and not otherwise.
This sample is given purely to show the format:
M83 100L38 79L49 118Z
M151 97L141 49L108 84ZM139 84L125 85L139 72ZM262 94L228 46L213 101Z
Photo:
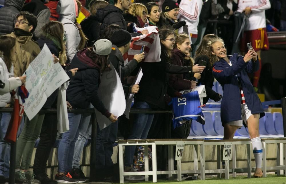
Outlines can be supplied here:
M19 77L27 70L29 64L41 52L41 49L38 43L32 40L32 33L31 36L16 37L13 32L9 36L16 38L16 54L12 58L12 63L14 65L14 76Z

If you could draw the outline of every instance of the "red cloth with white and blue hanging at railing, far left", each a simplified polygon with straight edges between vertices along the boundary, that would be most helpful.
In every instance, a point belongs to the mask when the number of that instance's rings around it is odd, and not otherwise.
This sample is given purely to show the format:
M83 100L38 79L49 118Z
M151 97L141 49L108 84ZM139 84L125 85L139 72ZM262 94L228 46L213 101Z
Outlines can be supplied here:
M27 91L25 86L20 86L15 91L13 91L13 93L15 94L14 108L4 139L7 142L15 143L17 139L17 131L21 124L21 120L24 113L23 104L25 103L25 98L28 98L29 92Z

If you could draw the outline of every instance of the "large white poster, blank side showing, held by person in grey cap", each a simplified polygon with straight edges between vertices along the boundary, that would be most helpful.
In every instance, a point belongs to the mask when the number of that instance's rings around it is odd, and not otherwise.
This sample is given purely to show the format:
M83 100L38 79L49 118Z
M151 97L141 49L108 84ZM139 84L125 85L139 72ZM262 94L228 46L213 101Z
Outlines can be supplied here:
M125 96L120 78L110 63L110 69L102 72L98 96L105 108L115 116L121 116L126 107ZM98 110L95 109L96 119L100 130L109 126L112 122Z

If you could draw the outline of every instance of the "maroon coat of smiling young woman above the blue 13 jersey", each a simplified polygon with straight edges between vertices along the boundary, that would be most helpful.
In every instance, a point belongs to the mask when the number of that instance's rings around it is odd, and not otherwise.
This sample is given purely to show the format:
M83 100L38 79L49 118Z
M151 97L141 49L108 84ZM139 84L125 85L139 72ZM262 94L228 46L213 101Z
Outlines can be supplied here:
M177 48L172 50L171 64L184 66L182 61L186 57L186 54L182 53ZM192 87L192 82L190 80L184 79L183 74L172 74L169 77L169 84L177 91L188 90Z

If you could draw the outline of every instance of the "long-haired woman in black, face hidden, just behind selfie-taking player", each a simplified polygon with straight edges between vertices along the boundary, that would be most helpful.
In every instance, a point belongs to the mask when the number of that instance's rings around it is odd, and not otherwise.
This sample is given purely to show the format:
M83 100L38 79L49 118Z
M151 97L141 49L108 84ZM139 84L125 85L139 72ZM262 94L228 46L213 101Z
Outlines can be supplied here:
M206 68L201 73L200 79L198 80L198 85L205 85L206 87L206 97L203 98L203 104L206 104L208 102L208 99L212 99L215 102L219 101L220 94L212 90L212 86L214 83L214 76L212 75L212 65L214 64L215 59L212 59L212 54L210 52L210 48L208 47L208 42L211 39L217 38L217 35L215 34L207 34L203 37L202 43L196 50L196 57L195 57L195 64L202 64L205 63ZM201 61L205 62L201 62Z

